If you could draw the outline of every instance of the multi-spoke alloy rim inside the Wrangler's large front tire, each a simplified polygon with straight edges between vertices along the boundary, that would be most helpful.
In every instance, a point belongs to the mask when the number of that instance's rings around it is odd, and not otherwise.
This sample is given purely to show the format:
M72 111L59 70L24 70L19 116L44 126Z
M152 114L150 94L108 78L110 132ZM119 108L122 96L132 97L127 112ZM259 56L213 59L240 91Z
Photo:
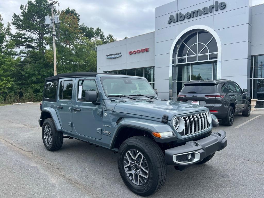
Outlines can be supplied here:
M124 156L124 169L129 180L144 185L148 180L149 167L146 158L138 150L130 149Z

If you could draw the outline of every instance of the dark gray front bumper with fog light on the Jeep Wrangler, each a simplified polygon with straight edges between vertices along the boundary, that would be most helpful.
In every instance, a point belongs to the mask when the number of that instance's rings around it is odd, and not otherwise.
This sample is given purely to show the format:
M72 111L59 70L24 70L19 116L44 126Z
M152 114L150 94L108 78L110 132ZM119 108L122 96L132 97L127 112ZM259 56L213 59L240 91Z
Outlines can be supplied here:
M222 150L227 146L226 133L220 130L217 133L212 133L208 137L197 141L186 142L185 145L165 150L165 159L167 164L175 166L186 166L202 161L210 154ZM192 161L178 160L185 155L191 154Z

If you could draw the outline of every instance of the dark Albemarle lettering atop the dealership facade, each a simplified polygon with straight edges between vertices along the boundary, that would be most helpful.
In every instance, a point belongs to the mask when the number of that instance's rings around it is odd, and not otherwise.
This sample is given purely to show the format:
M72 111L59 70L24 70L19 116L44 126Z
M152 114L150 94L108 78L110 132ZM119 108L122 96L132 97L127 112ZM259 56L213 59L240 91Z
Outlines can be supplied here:
M223 10L226 7L226 3L225 2L220 2L218 4L218 1L215 1L215 3L209 7L204 7L201 9L197 9L191 12L186 12L185 14L182 14L181 12L176 13L175 17L173 15L169 16L169 20L168 20L168 24L170 24L171 22L176 23L178 21L183 21L185 18L189 19L189 18L193 18L193 17L197 17L198 15L205 15L208 14L209 12L213 12L213 9L215 11L219 10Z

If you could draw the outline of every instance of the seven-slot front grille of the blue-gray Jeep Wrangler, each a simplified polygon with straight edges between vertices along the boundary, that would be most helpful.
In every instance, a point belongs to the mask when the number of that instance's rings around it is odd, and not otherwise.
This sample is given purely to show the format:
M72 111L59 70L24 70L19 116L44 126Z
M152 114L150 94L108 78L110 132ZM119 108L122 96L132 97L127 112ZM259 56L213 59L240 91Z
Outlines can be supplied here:
M209 122L205 113L183 116L182 119L185 122L185 127L180 135L192 135L200 133L209 128Z

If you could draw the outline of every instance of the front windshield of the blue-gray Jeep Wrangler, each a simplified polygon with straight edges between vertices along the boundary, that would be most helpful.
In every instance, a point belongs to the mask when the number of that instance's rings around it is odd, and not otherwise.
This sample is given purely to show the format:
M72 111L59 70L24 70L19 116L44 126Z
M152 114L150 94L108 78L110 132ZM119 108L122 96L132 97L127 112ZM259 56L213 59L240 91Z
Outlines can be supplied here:
M106 96L137 94L156 96L149 82L143 78L101 77L100 80Z

